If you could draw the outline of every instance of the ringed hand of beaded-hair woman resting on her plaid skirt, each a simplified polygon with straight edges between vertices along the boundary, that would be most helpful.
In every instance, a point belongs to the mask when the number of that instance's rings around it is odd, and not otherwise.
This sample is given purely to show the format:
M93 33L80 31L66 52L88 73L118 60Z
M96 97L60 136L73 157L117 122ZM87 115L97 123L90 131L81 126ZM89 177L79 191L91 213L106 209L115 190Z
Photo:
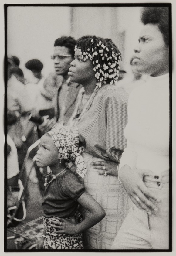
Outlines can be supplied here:
M94 169L99 170L98 174L100 175L113 175L117 176L117 162L114 161L99 161L99 162L92 162L91 165Z

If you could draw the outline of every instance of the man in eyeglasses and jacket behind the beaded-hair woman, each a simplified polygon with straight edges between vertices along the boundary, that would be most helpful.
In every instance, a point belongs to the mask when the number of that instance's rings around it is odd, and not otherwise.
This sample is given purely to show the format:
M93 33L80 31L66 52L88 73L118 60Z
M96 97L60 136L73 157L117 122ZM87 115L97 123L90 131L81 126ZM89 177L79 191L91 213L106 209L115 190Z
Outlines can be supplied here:
M74 59L75 45L76 40L71 36L61 36L54 42L54 54L51 59L54 62L55 73L50 74L48 78L50 82L45 83L45 89L52 90L55 118L39 126L42 133L49 131L56 121L67 124L73 114L76 97L82 87L80 84L69 81L68 72L70 63Z

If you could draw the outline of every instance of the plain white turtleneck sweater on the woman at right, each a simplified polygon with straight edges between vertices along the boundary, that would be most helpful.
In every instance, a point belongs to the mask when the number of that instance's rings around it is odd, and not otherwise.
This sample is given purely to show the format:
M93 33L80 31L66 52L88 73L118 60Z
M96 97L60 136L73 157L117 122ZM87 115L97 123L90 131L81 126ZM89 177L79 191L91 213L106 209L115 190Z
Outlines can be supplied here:
M128 100L128 123L124 130L127 148L119 169L147 169L160 175L169 169L169 74L148 77Z

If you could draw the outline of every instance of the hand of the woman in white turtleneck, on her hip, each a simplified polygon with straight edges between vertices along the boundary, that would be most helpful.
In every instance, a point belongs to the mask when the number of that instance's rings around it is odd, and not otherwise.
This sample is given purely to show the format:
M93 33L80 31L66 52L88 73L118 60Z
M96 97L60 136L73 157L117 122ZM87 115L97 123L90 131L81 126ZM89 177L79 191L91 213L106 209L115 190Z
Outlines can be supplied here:
M152 202L157 198L144 184L143 177L153 175L150 170L131 169L130 166L124 165L119 172L119 179L123 183L125 190L132 202L139 208L145 210L149 215L152 211L157 212L156 205Z

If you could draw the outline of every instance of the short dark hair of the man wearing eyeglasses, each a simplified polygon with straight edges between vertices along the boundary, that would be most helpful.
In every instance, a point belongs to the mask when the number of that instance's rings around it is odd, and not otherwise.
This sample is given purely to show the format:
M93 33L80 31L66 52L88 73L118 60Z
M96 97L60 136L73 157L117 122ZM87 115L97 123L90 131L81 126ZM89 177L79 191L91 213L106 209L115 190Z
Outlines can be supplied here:
M75 45L76 45L76 40L72 36L61 36L58 39L56 39L54 42L54 47L55 46L67 47L72 57L74 57L74 54L75 54L75 51L74 51Z

